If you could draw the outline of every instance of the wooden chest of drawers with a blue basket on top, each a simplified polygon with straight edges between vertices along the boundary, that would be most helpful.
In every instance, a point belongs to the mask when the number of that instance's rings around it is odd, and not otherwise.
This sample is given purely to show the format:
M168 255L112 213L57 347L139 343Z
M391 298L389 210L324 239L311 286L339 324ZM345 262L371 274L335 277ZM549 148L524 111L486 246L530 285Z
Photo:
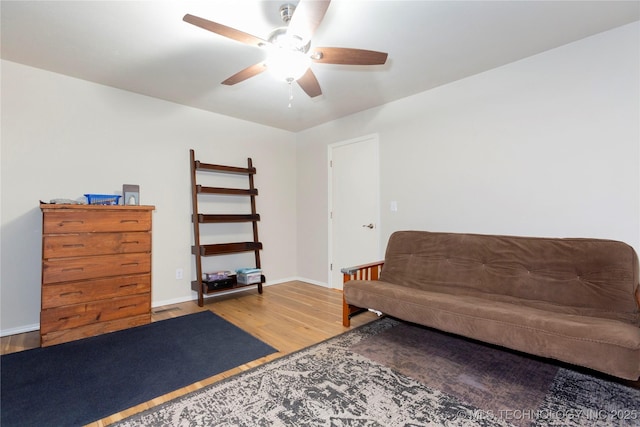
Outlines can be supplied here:
M150 323L154 206L40 208L40 344Z

